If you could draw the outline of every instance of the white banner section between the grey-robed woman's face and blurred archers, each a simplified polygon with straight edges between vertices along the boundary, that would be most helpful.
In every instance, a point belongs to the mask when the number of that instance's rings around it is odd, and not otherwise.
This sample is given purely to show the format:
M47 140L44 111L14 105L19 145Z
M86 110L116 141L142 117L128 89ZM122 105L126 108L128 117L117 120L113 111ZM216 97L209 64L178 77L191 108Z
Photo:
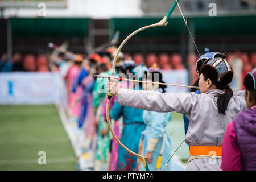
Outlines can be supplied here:
M180 70L161 70L163 81L167 84L188 85L188 71L187 69ZM180 86L167 86L166 92L189 92L188 88Z

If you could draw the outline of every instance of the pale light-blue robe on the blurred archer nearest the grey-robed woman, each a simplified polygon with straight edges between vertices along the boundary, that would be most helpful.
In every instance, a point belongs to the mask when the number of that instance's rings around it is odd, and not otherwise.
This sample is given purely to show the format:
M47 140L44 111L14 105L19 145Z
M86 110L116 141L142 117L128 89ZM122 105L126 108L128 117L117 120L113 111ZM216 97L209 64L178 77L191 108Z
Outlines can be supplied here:
M152 162L147 163L150 171L156 171L156 161L162 148L163 137L164 137L164 150L162 154L161 168L166 164L167 160L171 156L171 140L167 133L166 126L171 121L171 113L156 113L152 111L143 111L143 121L146 124L146 129L143 131L144 140L142 155L146 155L147 146L150 138L158 139L158 143L155 146L155 150L152 152ZM144 171L145 168L141 163L139 171ZM171 170L171 162L167 164L164 170Z

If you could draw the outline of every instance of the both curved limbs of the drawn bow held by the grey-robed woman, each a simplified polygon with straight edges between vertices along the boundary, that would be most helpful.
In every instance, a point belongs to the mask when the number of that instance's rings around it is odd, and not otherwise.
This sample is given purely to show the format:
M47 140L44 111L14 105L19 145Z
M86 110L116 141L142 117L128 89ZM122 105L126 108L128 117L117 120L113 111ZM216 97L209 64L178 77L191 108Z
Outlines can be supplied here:
M179 1L179 0L177 0ZM133 35L137 34L138 32L142 31L142 30L146 30L147 28L151 28L151 27L158 27L158 26L167 26L167 20L168 18L170 17L172 11L174 11L176 5L177 5L177 1L174 2L174 4L171 6L171 9L168 11L168 13L164 16L164 18L162 20L160 20L160 22L158 23L155 23L155 24L151 24L151 25L148 25L148 26L144 26L142 28L139 28L138 30L134 31L133 33L131 33L129 36L127 36L127 38L125 40L123 40L123 42L120 44L120 46L118 47L117 49L117 52L115 53L115 56L114 56L114 60L113 60L113 64L112 64L112 69L110 69L110 74L111 74L111 77L114 77L115 76L115 63L117 61L117 57L118 57L118 54L119 52L121 51L123 45L127 42L127 40L129 40ZM146 168L147 171L149 171L148 169L148 165L147 165L147 162L146 162L146 158L142 155L139 155L131 150L129 150L129 148L127 148L126 146L124 146L120 140L117 138L117 136L115 135L112 127L111 127L111 124L110 124L110 118L109 118L109 103L110 103L110 99L111 99L112 95L110 94L110 92L108 93L108 102L107 102L107 105L106 105L106 118L107 118L107 121L108 121L108 126L109 126L109 129L113 135L113 137L115 138L115 140L117 140L117 142L123 147L125 148L126 151L130 152L131 154L137 156L137 158L139 158L141 160L141 162L143 163L143 166Z

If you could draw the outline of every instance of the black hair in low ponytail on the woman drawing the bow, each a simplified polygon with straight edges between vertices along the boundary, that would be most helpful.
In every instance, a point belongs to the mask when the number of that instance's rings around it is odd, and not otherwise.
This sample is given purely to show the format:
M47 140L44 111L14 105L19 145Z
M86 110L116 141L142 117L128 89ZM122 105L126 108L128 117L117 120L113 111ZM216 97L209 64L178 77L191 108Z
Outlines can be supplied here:
M204 79L205 81L208 78ZM219 82L213 82L213 84L216 86L217 89L220 90L226 90L224 94L218 94L215 97L218 97L217 99L217 107L218 107L218 113L219 114L226 114L226 110L228 109L228 104L230 98L233 96L233 90L229 87L229 85L222 85Z

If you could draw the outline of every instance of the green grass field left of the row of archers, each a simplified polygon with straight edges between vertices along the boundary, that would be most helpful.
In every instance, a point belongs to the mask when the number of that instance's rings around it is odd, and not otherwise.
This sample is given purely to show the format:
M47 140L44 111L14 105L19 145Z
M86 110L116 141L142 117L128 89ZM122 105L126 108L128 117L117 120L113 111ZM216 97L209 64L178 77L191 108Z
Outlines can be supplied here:
M0 170L76 170L55 105L0 106ZM38 152L46 164L38 164Z

